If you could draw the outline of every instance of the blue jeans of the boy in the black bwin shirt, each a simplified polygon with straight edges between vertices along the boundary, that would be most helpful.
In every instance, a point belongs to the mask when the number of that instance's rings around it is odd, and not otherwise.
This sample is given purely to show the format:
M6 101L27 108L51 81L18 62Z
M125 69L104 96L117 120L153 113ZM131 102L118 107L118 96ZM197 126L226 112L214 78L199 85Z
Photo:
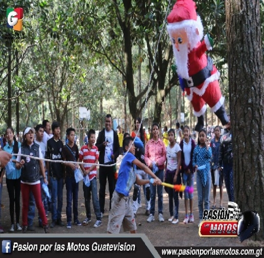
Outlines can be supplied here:
M62 218L63 177L60 179L49 177L49 186L51 192L51 219L56 221Z

